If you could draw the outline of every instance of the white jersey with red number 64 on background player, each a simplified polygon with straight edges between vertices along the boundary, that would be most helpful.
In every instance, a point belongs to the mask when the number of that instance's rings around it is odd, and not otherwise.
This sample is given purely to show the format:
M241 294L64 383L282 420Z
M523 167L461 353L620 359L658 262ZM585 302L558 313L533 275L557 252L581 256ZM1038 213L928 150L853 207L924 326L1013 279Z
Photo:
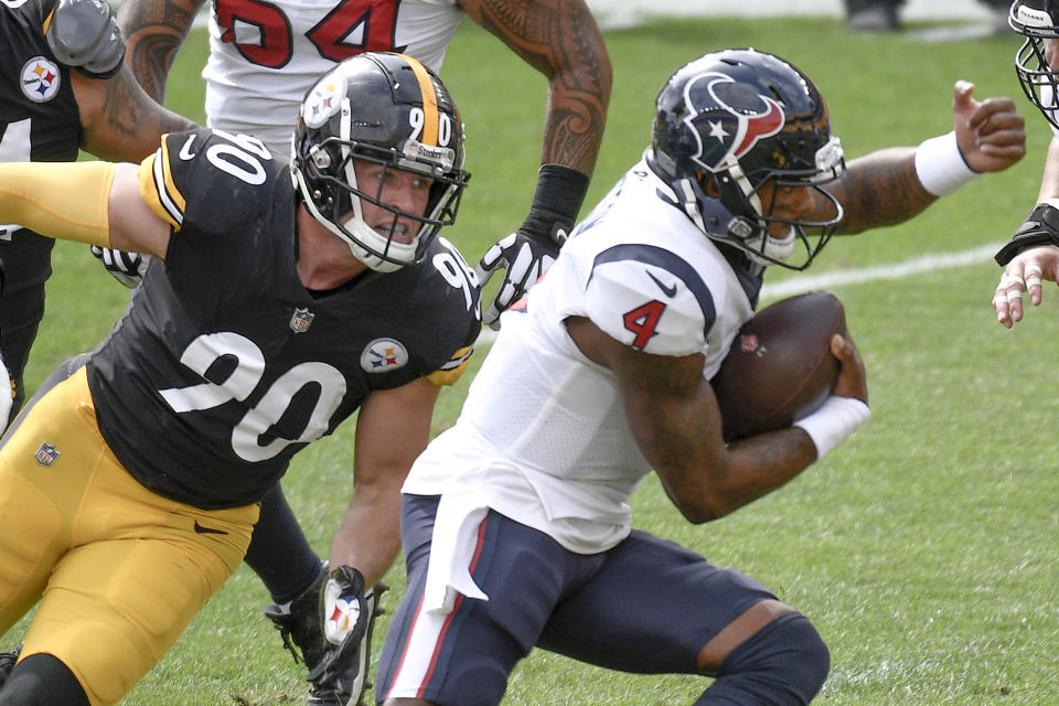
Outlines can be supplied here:
M398 51L440 71L464 17L456 0L214 0L202 71L207 124L289 158L298 107L335 63Z

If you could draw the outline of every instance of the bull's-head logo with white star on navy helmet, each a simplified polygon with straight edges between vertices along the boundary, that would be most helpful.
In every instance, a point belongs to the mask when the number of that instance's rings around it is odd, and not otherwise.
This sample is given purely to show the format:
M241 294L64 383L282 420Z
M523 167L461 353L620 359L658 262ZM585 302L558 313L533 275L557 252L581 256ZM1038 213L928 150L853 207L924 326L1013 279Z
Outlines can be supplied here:
M684 99L688 108L684 122L699 140L699 156L693 159L714 173L737 164L758 140L778 133L785 124L775 100L725 74L696 76L687 83Z

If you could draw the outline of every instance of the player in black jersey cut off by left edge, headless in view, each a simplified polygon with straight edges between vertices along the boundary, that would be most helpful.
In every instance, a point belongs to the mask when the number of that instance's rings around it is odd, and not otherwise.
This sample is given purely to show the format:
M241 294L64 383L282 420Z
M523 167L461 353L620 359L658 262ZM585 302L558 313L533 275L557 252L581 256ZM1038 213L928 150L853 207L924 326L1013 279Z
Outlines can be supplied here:
M163 132L194 127L143 93L124 55L103 0L0 3L0 162L73 161L78 148L139 161ZM0 218L0 352L11 374L11 417L25 398L22 373L44 315L53 244Z

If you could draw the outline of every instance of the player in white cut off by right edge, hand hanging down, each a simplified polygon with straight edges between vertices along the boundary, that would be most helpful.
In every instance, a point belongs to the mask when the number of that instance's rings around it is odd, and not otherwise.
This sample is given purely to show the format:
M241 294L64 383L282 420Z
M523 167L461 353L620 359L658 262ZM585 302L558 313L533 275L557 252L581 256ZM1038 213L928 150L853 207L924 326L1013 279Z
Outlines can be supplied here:
M996 320L1010 329L1023 320L1023 295L1035 307L1044 301L1042 281L1059 281L1059 2L1016 0L1008 23L1026 39L1015 69L1026 97L1053 132L1045 158L1037 205L1010 242L996 254L1004 267L993 293Z

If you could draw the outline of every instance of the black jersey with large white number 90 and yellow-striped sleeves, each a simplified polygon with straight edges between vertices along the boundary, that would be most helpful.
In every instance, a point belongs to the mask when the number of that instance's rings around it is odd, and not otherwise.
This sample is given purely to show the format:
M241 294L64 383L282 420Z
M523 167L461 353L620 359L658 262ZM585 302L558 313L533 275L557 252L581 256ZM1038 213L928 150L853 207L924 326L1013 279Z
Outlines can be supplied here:
M418 266L310 292L290 171L257 140L167 136L140 184L172 237L88 382L104 437L148 488L205 509L256 502L372 391L462 372L479 290L442 238Z

